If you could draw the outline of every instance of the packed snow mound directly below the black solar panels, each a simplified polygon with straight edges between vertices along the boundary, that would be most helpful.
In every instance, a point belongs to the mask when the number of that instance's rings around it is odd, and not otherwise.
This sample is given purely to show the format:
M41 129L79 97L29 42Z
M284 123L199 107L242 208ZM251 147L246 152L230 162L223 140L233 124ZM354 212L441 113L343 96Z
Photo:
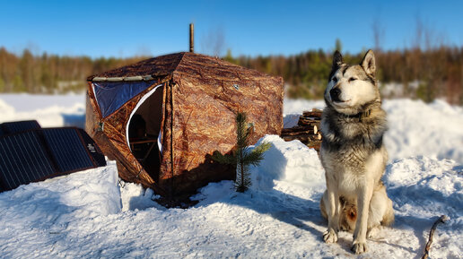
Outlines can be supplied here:
M59 229L73 220L120 212L118 169L114 161L108 164L0 194L0 219L8 219L0 220L0 229L16 224L24 230ZM12 234L2 231L0 235L14 237Z

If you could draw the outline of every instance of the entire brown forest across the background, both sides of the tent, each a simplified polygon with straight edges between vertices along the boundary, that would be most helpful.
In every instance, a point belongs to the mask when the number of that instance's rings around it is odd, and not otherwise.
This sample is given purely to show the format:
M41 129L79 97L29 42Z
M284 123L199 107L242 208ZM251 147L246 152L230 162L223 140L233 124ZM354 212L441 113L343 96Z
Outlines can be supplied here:
M341 48L336 42L336 49ZM366 51L366 49L365 49ZM343 53L346 63L359 63L364 52ZM333 51L309 50L293 56L232 56L223 59L258 71L283 76L288 98L321 99L331 69ZM386 98L432 101L447 99L463 105L463 47L411 47L375 50L380 87ZM147 56L131 58L32 55L29 49L15 55L0 47L0 92L66 93L84 91L86 77L135 63Z

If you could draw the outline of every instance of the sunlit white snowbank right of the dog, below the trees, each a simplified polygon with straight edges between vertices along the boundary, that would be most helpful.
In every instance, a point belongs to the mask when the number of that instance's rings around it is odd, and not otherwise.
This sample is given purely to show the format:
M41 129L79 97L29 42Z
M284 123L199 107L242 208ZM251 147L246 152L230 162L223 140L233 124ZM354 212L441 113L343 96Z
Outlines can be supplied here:
M421 100L384 102L389 132L385 139L391 159L413 155L463 163L463 108L442 100L426 105Z

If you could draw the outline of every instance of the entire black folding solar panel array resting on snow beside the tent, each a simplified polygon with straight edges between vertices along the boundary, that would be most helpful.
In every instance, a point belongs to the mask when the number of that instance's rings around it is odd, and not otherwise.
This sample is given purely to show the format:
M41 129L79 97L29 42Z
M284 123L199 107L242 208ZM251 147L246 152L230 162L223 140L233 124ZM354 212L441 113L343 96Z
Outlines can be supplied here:
M36 121L0 125L0 192L101 166L104 154L83 129L41 129Z

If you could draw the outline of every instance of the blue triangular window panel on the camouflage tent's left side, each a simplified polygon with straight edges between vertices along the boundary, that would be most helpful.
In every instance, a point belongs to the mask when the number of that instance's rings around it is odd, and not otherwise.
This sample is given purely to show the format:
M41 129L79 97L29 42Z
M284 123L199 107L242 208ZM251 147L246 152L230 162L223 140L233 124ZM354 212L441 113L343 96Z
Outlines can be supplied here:
M152 86L153 82L93 82L93 92L101 116L108 117L129 99Z

